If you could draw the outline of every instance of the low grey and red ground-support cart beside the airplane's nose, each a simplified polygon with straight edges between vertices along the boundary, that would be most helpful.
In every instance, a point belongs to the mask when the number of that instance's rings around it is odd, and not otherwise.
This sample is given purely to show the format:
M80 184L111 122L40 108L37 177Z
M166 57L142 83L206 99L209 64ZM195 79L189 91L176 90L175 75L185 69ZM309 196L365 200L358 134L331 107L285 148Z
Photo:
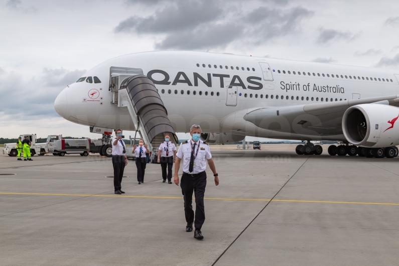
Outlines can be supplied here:
M90 152L90 139L63 139L54 141L53 155L80 154L88 156Z

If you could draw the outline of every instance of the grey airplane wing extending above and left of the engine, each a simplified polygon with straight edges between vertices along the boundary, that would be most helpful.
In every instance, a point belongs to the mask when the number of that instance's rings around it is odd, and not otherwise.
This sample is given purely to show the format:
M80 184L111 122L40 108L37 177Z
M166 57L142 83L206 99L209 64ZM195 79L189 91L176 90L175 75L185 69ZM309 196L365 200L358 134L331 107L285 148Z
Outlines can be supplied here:
M342 134L342 116L350 106L376 103L399 107L398 98L399 95L389 95L294 106L265 107L251 110L243 118L260 128L273 131L311 136L340 135Z

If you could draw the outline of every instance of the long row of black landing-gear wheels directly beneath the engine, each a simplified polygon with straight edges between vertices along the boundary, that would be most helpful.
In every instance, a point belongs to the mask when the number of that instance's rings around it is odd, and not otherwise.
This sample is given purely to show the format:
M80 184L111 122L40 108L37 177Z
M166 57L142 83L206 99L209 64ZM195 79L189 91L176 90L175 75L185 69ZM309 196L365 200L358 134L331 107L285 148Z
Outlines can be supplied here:
M354 145L331 145L328 147L328 154L331 156L356 156L367 158L394 158L399 154L399 149L396 146L386 148L364 148L356 147Z

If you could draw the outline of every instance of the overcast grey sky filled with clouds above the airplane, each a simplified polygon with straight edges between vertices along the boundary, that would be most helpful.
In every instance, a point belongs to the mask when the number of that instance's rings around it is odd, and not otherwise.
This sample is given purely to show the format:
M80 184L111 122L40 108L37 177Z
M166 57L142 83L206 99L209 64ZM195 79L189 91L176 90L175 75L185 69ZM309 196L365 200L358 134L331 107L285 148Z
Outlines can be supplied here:
M130 53L209 51L399 73L393 0L2 0L0 25L0 138L99 138L59 116L54 100L86 70Z

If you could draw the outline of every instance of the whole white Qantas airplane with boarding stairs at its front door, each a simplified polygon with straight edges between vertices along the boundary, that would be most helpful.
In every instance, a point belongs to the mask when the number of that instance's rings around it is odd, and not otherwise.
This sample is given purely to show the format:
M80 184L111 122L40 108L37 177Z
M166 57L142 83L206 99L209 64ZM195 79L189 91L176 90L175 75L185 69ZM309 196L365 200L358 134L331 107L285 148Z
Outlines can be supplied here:
M398 74L396 74L398 73ZM213 144L245 136L338 141L332 156L397 156L399 71L210 52L119 56L88 70L57 96L65 119L108 141L112 128L136 130L154 146L164 134L200 124ZM151 146L151 149L152 149Z

